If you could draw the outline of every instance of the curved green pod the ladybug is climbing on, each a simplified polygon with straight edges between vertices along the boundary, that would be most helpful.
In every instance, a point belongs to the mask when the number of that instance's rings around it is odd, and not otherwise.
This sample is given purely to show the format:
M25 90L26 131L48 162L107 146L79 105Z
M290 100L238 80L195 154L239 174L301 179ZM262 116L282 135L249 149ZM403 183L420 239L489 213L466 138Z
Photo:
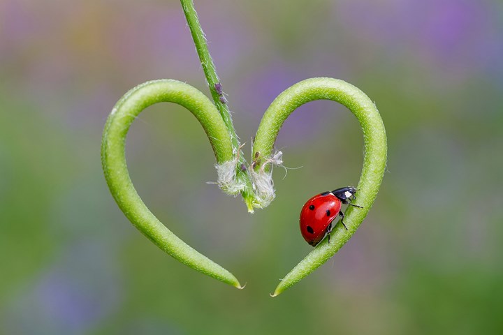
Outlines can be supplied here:
M324 239L316 246L282 279L272 297L279 295L323 265L349 240L372 207L386 168L386 131L376 106L360 89L332 78L303 80L286 89L272 102L256 133L254 157L258 157L259 160L268 158L279 128L291 112L309 101L321 99L337 101L348 107L360 122L365 140L365 156L357 186L359 190L357 204L363 206L363 209L349 207L344 218L348 230L344 230L342 225L335 225L330 235L330 243L328 239ZM259 168L261 167L257 166L256 170Z

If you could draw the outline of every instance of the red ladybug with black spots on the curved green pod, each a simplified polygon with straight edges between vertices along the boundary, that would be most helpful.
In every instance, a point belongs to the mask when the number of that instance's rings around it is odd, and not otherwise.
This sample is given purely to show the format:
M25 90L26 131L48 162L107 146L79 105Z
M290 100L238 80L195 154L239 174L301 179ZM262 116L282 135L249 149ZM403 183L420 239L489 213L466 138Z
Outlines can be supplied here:
M356 204L351 204L355 200L356 188L347 186L337 188L334 191L323 192L319 195L314 195L313 198L307 200L300 211L300 232L307 243L312 246L319 244L326 235L330 241L330 232L332 232L332 222L341 216L341 223L344 225L344 213L342 213L342 204L349 204L353 207L363 208ZM347 227L344 225L344 228Z

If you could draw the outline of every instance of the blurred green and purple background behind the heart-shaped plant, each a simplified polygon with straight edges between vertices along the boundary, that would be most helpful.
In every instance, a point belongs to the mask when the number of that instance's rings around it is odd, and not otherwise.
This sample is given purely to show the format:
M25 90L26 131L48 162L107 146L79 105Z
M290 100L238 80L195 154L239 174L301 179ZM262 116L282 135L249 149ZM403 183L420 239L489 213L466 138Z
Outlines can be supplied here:
M178 1L0 1L0 334L503 334L503 3L196 1L249 155L263 111L307 77L376 101L388 171L358 232L272 299L311 247L307 198L354 185L363 138L344 107L294 113L277 200L247 214L214 181L196 119L149 107L131 177L235 290L176 262L126 220L100 165L105 119L131 87L205 93Z

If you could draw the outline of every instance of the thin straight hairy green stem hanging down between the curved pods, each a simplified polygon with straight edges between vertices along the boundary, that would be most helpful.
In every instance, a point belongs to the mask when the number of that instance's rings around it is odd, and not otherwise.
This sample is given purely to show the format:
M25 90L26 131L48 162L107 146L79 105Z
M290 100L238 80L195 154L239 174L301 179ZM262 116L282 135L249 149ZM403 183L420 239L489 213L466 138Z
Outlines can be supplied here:
M199 60L201 61L201 66L203 66L203 71L205 73L206 81L208 87L210 88L210 92L214 101L214 104L217 106L221 118L224 120L224 123L227 126L228 133L231 136L231 141L233 144L233 149L235 153L236 162L236 179L238 181L243 181L246 184L246 188L242 191L242 197L245 200L245 204L247 204L248 211L253 213L253 205L254 205L254 194L251 191L251 181L245 171L242 171L240 167L242 165L247 166L247 161L245 157L240 154L240 142L238 135L235 133L233 121L231 118L231 113L228 110L228 106L226 103L222 103L220 101L220 95L215 89L215 84L219 83L219 77L217 75L217 70L213 64L213 59L210 55L210 51L208 50L205 34L203 33L203 28L199 23L198 15L196 13L196 9L194 8L194 1L192 0L180 0L182 3L182 8L184 10L185 17L187 19L187 24L189 25L189 29L191 31L192 38L194 39L194 44L196 45L196 50L199 56Z

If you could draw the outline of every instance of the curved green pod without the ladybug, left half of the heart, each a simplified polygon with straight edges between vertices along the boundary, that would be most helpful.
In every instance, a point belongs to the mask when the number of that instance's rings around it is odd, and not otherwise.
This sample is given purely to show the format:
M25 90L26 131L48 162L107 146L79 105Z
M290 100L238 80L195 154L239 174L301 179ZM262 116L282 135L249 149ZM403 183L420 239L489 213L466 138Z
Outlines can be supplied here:
M156 246L203 274L241 288L231 272L201 255L168 230L143 203L131 182L124 154L127 132L140 112L160 102L177 103L194 114L210 140L217 163L233 158L226 125L212 102L201 91L177 80L145 82L119 100L105 124L101 163L110 192L129 221Z

